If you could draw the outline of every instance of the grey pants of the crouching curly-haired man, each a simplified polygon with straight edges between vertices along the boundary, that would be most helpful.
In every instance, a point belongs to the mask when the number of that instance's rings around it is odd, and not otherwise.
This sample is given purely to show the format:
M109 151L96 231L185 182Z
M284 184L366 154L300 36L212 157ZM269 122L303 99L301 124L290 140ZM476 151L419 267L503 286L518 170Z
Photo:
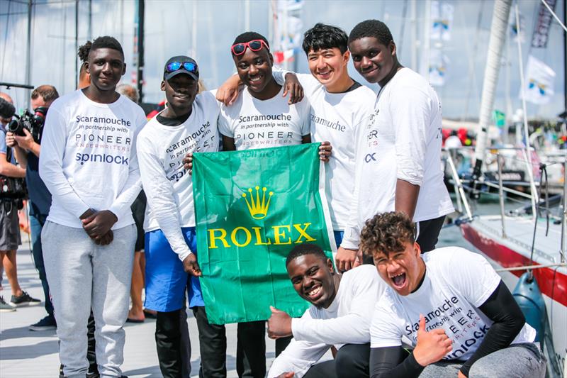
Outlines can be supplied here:
M455 378L463 362L440 361L423 369L420 378ZM512 344L477 360L468 378L544 378L546 360L534 343Z

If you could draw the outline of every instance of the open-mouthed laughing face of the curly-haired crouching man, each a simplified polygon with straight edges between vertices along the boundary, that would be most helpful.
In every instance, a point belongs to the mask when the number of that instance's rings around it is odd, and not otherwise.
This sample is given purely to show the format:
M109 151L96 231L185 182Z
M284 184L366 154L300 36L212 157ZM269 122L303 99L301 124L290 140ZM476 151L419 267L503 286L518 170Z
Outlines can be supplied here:
M374 252L374 265L378 274L392 289L401 296L406 296L420 284L425 274L425 262L420 257L420 245L404 243L400 252Z

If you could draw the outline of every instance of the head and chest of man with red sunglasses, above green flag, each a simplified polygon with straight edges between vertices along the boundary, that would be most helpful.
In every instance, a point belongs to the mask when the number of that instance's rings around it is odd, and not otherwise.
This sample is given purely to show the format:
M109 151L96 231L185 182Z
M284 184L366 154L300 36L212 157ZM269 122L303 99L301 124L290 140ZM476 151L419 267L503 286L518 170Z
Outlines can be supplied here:
M251 150L310 143L307 101L288 104L272 76L272 57L263 35L247 32L232 44L232 60L245 84L232 106L223 106L219 130L224 150Z

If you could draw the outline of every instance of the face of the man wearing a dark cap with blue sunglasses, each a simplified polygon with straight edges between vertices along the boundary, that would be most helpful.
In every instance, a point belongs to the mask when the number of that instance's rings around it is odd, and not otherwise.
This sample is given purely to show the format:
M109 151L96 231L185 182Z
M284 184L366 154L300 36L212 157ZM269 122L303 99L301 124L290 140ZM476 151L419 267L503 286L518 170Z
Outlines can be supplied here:
M188 74L176 74L162 81L162 91L165 91L168 109L172 108L174 116L181 116L191 110L198 93L198 82Z

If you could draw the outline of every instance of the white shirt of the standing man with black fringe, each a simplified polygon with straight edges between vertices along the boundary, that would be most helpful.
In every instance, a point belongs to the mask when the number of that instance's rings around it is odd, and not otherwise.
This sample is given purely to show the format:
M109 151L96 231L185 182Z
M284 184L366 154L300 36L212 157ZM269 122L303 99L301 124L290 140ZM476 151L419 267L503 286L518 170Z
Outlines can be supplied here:
M283 84L286 71L274 70ZM325 164L325 191L333 230L347 228L354 191L356 135L374 112L376 94L364 85L344 93L330 93L312 74L296 74L311 104L313 142L329 141L332 154Z

